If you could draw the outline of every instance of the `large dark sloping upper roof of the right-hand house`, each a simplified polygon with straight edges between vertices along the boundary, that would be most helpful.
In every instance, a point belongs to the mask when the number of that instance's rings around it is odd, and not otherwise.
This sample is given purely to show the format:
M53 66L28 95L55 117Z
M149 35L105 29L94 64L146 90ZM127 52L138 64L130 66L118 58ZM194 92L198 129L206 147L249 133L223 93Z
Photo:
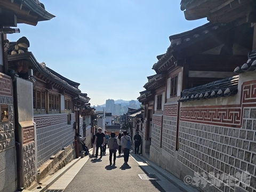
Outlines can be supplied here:
M167 67L174 66L177 64L174 61L177 61L178 59L185 59L186 57L191 57L194 54L201 53L221 45L223 42L216 41L215 38L210 37L218 34L220 35L233 26L233 23L206 23L205 25L193 30L170 36L169 39L171 41L171 45L168 47L162 58L153 65L152 69L156 70L157 73L160 73L161 70L159 70L159 68L166 68L167 65L169 65ZM208 41L207 46L200 45L198 47L194 47L197 43L204 44L206 39ZM171 63L169 61L171 61Z

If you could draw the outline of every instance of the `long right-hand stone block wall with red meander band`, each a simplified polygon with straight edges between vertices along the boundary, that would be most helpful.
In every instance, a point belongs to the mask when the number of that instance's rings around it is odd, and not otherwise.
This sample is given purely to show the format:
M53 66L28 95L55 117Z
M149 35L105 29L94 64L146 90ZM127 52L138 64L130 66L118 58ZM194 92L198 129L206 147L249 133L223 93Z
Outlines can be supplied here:
M159 115L153 115L150 160L201 191L256 191L256 81L251 75L239 77L233 97L182 103L178 143L173 112L178 105L165 103L161 138Z

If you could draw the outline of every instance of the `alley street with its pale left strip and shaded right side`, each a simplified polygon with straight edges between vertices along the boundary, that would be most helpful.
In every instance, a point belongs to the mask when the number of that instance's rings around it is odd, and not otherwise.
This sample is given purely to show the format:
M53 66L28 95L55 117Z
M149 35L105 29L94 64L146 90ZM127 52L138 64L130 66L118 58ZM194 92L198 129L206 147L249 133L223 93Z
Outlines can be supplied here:
M172 191L181 192L140 157L130 154L128 165L117 156L109 165L108 149L102 158L84 157L63 174L47 191ZM151 179L150 179L151 178Z

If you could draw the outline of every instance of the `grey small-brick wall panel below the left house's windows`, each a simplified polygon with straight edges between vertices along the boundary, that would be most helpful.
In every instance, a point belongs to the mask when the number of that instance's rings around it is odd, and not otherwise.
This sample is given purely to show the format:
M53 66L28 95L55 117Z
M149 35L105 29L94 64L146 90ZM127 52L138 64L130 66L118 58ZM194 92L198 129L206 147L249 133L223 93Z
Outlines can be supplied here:
M37 137L37 168L73 143L75 130L67 123L66 114L35 116Z

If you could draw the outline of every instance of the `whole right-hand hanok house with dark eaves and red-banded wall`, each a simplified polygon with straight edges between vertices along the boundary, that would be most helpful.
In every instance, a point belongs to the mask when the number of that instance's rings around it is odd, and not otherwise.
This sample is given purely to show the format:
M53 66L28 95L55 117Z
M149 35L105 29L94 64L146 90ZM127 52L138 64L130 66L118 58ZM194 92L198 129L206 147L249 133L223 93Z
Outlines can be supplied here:
M216 20L170 36L153 66L138 98L143 155L201 191L254 191L255 1L182 2L191 18Z

